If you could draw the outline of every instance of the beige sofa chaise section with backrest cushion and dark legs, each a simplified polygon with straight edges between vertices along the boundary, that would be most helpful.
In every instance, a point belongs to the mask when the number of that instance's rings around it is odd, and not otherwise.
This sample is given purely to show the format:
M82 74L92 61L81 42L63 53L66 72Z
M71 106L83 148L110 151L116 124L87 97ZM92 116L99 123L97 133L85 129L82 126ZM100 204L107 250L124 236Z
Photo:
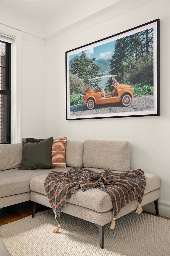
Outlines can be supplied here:
M84 143L83 163L86 169L97 172L102 172L106 168L115 173L128 171L130 169L130 143L86 140ZM63 171L66 172L67 170ZM146 173L145 176L147 185L141 206L154 201L158 214L157 199L160 196L160 179L153 174ZM36 203L51 208L43 185L45 177L45 175L37 176L32 178L30 182L31 200L35 202L33 217ZM116 219L135 210L137 206L137 200L131 201L121 209ZM67 200L61 212L94 223L99 229L100 246L101 248L104 247L104 229L106 224L113 219L112 203L107 193L96 188L84 192L77 189L72 197Z

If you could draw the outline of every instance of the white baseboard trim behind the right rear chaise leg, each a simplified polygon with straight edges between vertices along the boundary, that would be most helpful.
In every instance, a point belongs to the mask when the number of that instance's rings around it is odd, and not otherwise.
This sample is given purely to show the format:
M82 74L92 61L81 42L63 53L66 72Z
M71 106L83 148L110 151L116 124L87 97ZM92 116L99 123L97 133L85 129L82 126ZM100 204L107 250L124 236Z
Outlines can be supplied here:
M158 199L159 202L159 215L170 218L170 201ZM154 203L151 202L142 206L143 211L149 213L155 213Z

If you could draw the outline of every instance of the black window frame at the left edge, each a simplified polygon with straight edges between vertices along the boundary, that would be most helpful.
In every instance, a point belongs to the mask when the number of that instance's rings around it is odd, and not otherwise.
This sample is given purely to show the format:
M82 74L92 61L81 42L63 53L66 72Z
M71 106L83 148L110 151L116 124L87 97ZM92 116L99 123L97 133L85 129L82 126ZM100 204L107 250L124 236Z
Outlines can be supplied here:
M4 41L0 41L0 42L5 43L5 90L0 90L0 94L7 96L6 142L0 142L0 144L10 144L11 143L11 44Z

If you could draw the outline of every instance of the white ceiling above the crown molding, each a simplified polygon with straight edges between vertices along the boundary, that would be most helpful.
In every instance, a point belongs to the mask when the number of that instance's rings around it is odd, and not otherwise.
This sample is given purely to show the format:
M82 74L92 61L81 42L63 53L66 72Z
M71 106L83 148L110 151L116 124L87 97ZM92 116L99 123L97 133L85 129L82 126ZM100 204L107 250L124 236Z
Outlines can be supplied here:
M138 0L0 0L0 23L44 38L125 1Z

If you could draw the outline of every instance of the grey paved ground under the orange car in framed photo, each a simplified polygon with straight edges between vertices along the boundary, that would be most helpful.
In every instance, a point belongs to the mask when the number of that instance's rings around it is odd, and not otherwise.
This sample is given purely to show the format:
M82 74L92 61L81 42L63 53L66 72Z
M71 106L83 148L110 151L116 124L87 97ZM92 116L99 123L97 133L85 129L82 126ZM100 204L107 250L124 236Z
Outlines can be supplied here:
M71 116L97 115L118 112L134 112L153 109L153 96L135 97L129 107L122 107L120 103L96 105L94 109L88 110L86 104L70 107Z

